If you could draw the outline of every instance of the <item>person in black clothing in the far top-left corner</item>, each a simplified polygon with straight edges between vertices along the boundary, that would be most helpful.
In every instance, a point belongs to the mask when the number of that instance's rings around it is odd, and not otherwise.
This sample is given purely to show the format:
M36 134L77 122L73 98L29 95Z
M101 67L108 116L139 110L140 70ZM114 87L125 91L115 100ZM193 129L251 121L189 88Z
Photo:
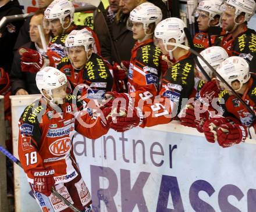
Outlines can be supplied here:
M0 1L0 20L5 16L22 14L22 9L17 0L2 0ZM23 21L14 21L7 23L6 26L0 29L0 67L6 72L10 72L13 60L13 46L19 34L20 27Z

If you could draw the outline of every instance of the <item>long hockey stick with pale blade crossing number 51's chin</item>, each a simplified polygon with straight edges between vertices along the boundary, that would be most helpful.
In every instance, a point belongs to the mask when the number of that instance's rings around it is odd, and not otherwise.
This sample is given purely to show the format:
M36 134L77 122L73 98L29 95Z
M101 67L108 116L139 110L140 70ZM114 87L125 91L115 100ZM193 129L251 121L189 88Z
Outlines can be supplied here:
M234 94L234 96L236 96L237 99L240 100L240 102L246 107L246 109L248 110L248 112L250 112L252 115L253 115L253 118L255 120L255 113L253 112L253 110L251 109L250 106L247 105L246 102L244 102L244 100L241 98L241 96L239 94L237 94L236 91L234 91L234 89L222 78L221 75L219 75L219 73L207 62L207 60L205 60L202 55L200 55L200 53L198 53L197 51L194 51L194 49L191 49L190 47L188 46L185 46L185 45L182 45L182 44L176 44L176 43L173 43L173 42L168 42L167 43L168 45L173 45L173 46L178 46L180 48L183 48L183 49L186 49L188 51L190 51L191 53L193 53L194 55L198 56L208 67L209 69L211 69L211 71L213 73L215 73L215 75L223 82L223 84L226 85L227 88L230 89L230 91L232 91L232 93Z

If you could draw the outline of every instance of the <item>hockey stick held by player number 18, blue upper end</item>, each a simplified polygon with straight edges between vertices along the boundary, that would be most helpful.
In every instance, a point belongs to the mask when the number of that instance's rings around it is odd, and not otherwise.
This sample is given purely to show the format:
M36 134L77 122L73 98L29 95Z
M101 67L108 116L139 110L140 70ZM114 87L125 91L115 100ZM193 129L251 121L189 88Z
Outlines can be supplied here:
M16 163L19 167L22 168L22 164L20 163L20 161L13 156L13 154L11 154L8 150L6 150L2 145L0 145L0 152L2 152L3 154L5 154L6 157L8 157L10 160L12 160L14 163ZM76 206L74 206L72 203L70 203L68 200L65 199L65 197L63 197L62 195L60 195L55 188L52 188L52 193L58 197L59 199L61 199L67 206L69 206L70 209L72 209L74 212L81 212L79 209L76 208Z

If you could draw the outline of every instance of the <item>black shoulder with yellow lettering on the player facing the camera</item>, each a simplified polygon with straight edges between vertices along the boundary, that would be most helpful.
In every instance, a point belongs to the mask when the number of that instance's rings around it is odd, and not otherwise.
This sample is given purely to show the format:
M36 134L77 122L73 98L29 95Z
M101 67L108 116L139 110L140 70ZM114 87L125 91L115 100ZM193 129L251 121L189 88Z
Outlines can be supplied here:
M106 80L107 78L111 77L111 73L104 59L102 59L101 56L97 55L96 53L91 55L90 60L88 60L84 68L86 69L84 74L86 74L89 81L94 81L97 79Z

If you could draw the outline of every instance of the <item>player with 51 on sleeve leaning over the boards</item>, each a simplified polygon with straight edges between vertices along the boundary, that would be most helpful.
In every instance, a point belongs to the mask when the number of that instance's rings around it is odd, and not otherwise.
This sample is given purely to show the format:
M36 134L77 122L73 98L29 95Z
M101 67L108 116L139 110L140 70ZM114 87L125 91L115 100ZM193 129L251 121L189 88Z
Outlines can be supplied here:
M181 109L183 98L189 98L193 90L195 64L191 53L170 44L170 42L184 44L186 40L184 27L185 24L181 19L171 17L161 21L155 28L157 46L164 55L175 59L176 63L163 76L159 96L154 96L150 91L142 91L139 95L140 98L136 104L144 114L140 127L150 127L172 121ZM183 102L183 105L186 105L186 102Z

